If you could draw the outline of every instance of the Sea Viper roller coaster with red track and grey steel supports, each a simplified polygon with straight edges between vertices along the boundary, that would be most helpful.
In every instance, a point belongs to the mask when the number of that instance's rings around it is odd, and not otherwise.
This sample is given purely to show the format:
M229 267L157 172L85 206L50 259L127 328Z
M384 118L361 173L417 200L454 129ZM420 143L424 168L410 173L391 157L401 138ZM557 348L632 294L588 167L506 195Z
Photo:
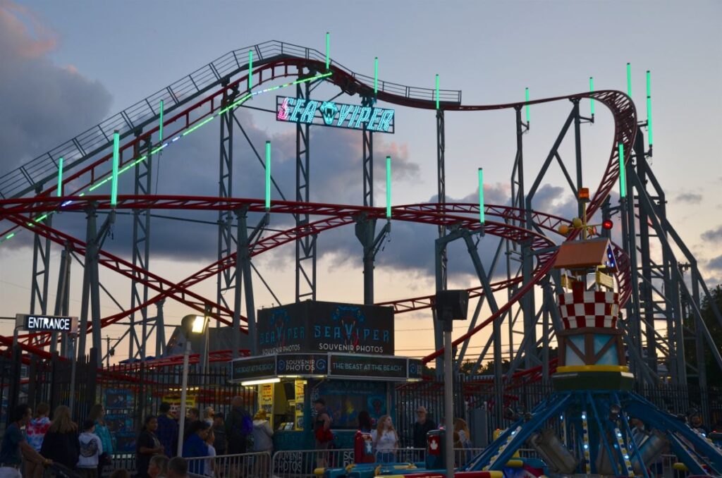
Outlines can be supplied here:
M232 191L234 175L238 175L241 159L234 157L234 139L248 141L261 168L264 160L245 133L236 114L249 108L251 97L271 96L271 92L293 91L295 97L310 99L319 84L339 90L338 96L359 97L362 105L396 105L434 114L437 139L438 202L408 204L386 209L373 200L375 164L373 129L360 128L362 136L362 205L318 204L310 201L313 160L310 154L311 128L308 123L295 124L295 200L285 199L283 191L271 175L271 184L281 200L268 204L264 199L243 199ZM335 97L334 97L335 98ZM79 313L80 334L77 349L70 349L56 334L38 332L13 338L0 337L0 344L12 347L15 342L26 354L46 356L58 351L63 356L87 353L87 336L97 355L98 366L118 343L129 342L129 358L149 365L175 363L166 353L165 320L162 306L172 299L191 310L204 313L232 326L234 347L217 351L211 360L227 360L248 350L240 347L240 334L253 335L255 311L253 274L263 277L253 266L253 258L279 246L295 243L295 300L316 298L318 237L321 233L342 226L355 226L360 240L360 256L364 269L363 301L374 300L374 263L379 245L388 235L393 222L413 222L436 227L435 241L436 289L447 287L447 245L463 240L469 261L479 278L479 286L469 290L477 300L474 316L465 334L453 342L455 366L468 361L469 340L482 329L492 332L485 347L476 357L471 375L482 365L493 363L496 383L521 380L533 376L547 381L554 368L550 356L554 341L554 323L559 323L559 310L554 295L560 292L562 277L552 269L557 247L565 240L574 240L578 231L562 235L560 226L570 218L557 217L534 209L534 198L552 164L560 165L576 197L583 186L583 161L580 129L593 123L595 116L580 112L580 102L591 100L608 108L614 121L609 138L609 159L599 185L592 190L579 215L606 220L618 218L622 234L614 243L617 257L616 282L619 303L624 310L625 337L630 368L638 381L649 385L669 382L686 385L694 378L707 386L705 354L722 368L719 344L715 344L702 313L703 303L713 311L722 326L722 314L711 300L697 261L666 218L664 189L656 180L648 158L652 155L651 131L645 144L644 131L651 119L641 121L635 103L624 92L599 90L575 95L551 97L499 105L466 105L461 91L410 87L386 82L377 77L357 74L327 53L279 41L269 41L226 53L193 71L183 79L150 95L121 113L82 132L68 142L51 149L17 169L0 176L0 247L17 235L32 237L32 284L30 313L69 315L70 264L73 259L83 266L82 308ZM541 103L570 103L571 110L552 143L538 173L524 170L523 139L529 134L530 122L523 118L524 108ZM254 108L276 114L276 110ZM479 222L479 204L446 201L445 191L445 116L471 111L508 110L510 126L516 131L516 157L511 175L512 197L508 205L484 204L488 219ZM649 113L649 111L648 111ZM217 121L215 121L217 120ZM219 127L219 190L215 196L183 196L152 194L153 165L160 155L183 147L183 139L197 129ZM241 136L239 136L239 133ZM134 173L133 194L118 194L117 199L103 191L110 188L113 176L113 147L117 134L119 163L116 172ZM576 177L573 178L560 156L560 146L567 136L575 141ZM254 163L251 158L243 162ZM244 164L251 168L253 164ZM168 162L162 163L168 167ZM625 175L628 194L612 204L610 193ZM259 181L261 181L259 179ZM531 186L529 186L531 184ZM105 194L101 194L105 192ZM586 207L586 210L583 209ZM213 211L217 214L217 261L189 274L181 281L165 279L152 271L152 212ZM76 238L61 230L64 216L74 212L86 215L86 235ZM105 240L116 214L127 212L133 220L129 258L108 252ZM272 230L269 217L290 214L295 225L286 230ZM99 225L98 217L105 220ZM77 216L77 214L76 214ZM249 225L249 221L253 221ZM257 225L254 223L257 222ZM386 222L378 228L377 222ZM609 231L601 232L609 237ZM482 264L477 246L486 236L498 238L490 264ZM321 243L322 244L322 243ZM651 247L655 245L656 247ZM432 245L429 245L430 247ZM60 264L51 264L51 247L60 248ZM651 251L660 251L658 255ZM505 261L503 272L497 266ZM518 264L518 265L517 265ZM121 306L103 287L99 269L103 267L126 277L130 282L129 306ZM55 269L58 290L54 308L48 300L49 279ZM217 281L217 295L204 297L194 292L196 284L208 279ZM108 294L122 309L109 316L100 313L101 292ZM227 300L225 292L232 301ZM397 314L432 307L434 291L428 295L380 303L391 305ZM538 295L544 297L537 300ZM500 297L505 296L503 303ZM245 300L247 316L240 313ZM482 317L483 306L490 315ZM154 311L155 308L155 311ZM101 330L111 324L123 323L125 333L113 346L105 344ZM523 329L521 343L515 343L515 330ZM443 353L441 328L434 321L436 351L425 362L437 361ZM508 331L504 334L503 331ZM506 335L506 336L504 336ZM155 351L152 339L155 336ZM505 339L505 340L504 340ZM503 342L508 342L508 355ZM685 353L685 344L695 344L695 354ZM253 352L252 350L250 352ZM508 358L508 367L503 360ZM129 366L131 368L131 365ZM499 393L503 393L500 391ZM699 404L709 418L709 404Z

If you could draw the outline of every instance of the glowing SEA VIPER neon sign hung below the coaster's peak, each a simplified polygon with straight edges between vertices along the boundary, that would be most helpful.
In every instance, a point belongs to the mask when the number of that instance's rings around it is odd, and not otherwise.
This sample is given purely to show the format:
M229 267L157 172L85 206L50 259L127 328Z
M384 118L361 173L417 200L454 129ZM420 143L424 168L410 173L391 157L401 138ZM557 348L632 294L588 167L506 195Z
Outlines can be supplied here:
M285 96L277 96L276 103L278 121L393 133L394 110Z

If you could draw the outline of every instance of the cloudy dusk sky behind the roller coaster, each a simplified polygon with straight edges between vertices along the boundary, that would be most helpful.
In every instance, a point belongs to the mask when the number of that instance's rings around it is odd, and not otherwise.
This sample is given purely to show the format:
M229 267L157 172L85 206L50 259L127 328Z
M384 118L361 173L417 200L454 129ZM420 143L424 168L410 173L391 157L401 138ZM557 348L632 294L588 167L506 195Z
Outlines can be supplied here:
M645 118L644 71L652 71L653 170L666 190L672 224L695 252L708 284L722 282L722 187L720 167L722 100L722 4L716 1L27 1L0 0L0 174L17 168L180 79L227 51L266 40L282 40L323 50L331 32L334 61L373 74L379 58L381 79L463 91L465 104L522 100L585 91L593 76L597 89L625 90L625 64L632 64L632 97ZM318 97L338 91L319 88ZM348 103L357 99L346 97ZM272 108L274 98L254 106ZM588 113L588 103L581 106ZM531 131L524 136L528 180L539 170L570 110L567 102L534 107ZM596 123L583 125L585 183L596 188L611 146L613 125L603 108ZM251 143L274 144L274 176L283 194L293 196L295 131L267 113L242 109L238 118ZM511 111L449 113L446 116L447 194L474 198L475 172L483 166L487 202L508 201L516 148ZM240 134L235 147L234 195L260 197L263 173ZM573 142L562 145L571 166ZM360 204L361 137L339 129L313 129L313 201ZM427 202L436 194L435 118L430 111L397 108L396 133L375 136L377 157L391 155L394 204ZM217 125L199 130L164 152L158 176L160 194L217 194ZM380 172L380 168L378 168ZM129 192L128 178L121 194ZM377 204L383 200L378 177ZM558 170L544 181L536 209L571 214L573 198ZM105 191L108 192L108 191ZM280 196L274 192L274 197ZM616 196L615 196L616 197ZM164 213L159 213L164 214ZM173 214L168 214L173 215ZM213 222L212 213L195 214ZM290 224L272 217L272 227ZM53 224L82 237L83 217L63 214ZM5 223L2 223L3 230ZM130 256L129 217L119 217L106 248ZM216 255L212 225L158 218L153 222L151 269L178 280L201 269ZM378 257L376 297L392 300L433 290L435 228L394 223L391 240ZM30 300L32 236L22 233L0 245L0 316L25 312ZM487 260L496 243L480 245ZM282 302L293 300L292 245L254 264ZM323 300L362 300L360 245L350 228L319 239L318 294ZM57 258L57 249L53 258ZM461 245L450 253L451 286L470 287L468 256ZM51 274L57 273L57 261ZM79 313L82 269L74 264L71 313ZM101 279L121 304L130 284L101 271ZM51 291L55 292L55 279ZM256 281L256 305L269 306L271 294ZM214 281L196 291L215 297ZM230 297L229 297L230 300ZM51 306L54 294L51 293ZM103 315L118 310L105 299ZM165 306L168 323L186 313ZM4 333L12 327L0 324ZM397 352L430 352L428 313L399 316ZM119 336L122 326L103 331ZM481 340L474 341L479 347Z

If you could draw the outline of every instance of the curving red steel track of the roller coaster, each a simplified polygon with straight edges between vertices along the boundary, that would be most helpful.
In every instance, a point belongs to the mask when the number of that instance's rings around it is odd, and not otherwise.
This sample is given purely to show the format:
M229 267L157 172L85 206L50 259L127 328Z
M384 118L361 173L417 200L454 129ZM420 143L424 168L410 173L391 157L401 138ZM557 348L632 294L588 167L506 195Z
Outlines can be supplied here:
M326 71L325 64L321 61L287 56L258 66L258 68L252 72L252 74L257 77L254 79L254 84L258 87L265 82L273 81L279 78L291 76L296 77L304 68L309 69L310 71ZM349 72L344 69L332 65L330 71L332 73L331 76L326 77L325 80L336 84L344 90L344 92L348 92L349 94L368 94L372 91L372 87L369 84L360 82L357 77L353 74L349 74ZM181 131L186 131L200 121L204 121L204 118L207 118L209 115L213 115L217 110L219 110L219 108L221 108L222 98L224 95L226 95L229 90L243 85L247 79L248 75L235 79L234 82L231 82L226 87L222 87L219 90L212 92L212 94L204 97L202 100L193 103L193 105L188 106L186 109L176 113L170 118L166 118L164 123L166 131L170 131L171 128L175 128L173 134L170 134L167 137L178 134ZM378 100L409 108L422 108L428 110L435 108L435 102L431 99L417 100L401 95L393 95L389 92L378 92L377 97ZM622 161L628 160L629 154L632 151L632 143L634 141L637 128L637 117L634 103L632 103L627 95L618 91L602 90L597 92L580 93L577 95L532 100L528 103L507 103L502 105L459 105L456 103L441 103L441 108L443 110L450 111L498 110L505 108L521 108L526 104L549 103L558 100L574 100L581 98L593 98L594 100L599 101L609 108L614 118L614 139L612 141L609 162L607 162L599 187L596 191L594 191L593 197L587 206L587 215L588 217L591 217L592 214L601 207L602 202L606 199L606 196L609 195L614 183L617 181L620 163L618 156L619 149L617 148L617 145L624 145L626 157L622 158ZM191 119L191 116L193 116L193 119ZM152 134L155 134L156 132L157 127L149 129L139 136L134 136L121 146L121 152L125 150L129 150L131 152L136 150L142 142L149 140ZM53 240L53 242L60 244L69 243L75 251L84 251L85 244L82 240L72 238L71 236L61 233L58 230L54 230L46 225L32 223L26 214L55 212L58 210L80 210L87 207L91 201L95 203L94 205L97 209L110 209L108 196L74 196L74 194L78 194L79 191L87 188L90 184L96 183L110 174L111 156L112 154L108 153L107 155L100 157L99 159L91 162L89 165L86 165L84 168L80 168L75 173L64 178L64 184L67 185L70 185L71 182L74 181L74 183L72 183L74 186L74 192L69 196L61 198L52 197L51 194L55 191L56 186L51 186L38 194L38 196L32 198L1 200L0 219L7 219L13 222L14 226L9 230L6 230L5 233L0 235L0 237L4 237L7 233L17 229L17 227L25 227L45 238ZM125 156L126 160L123 161L121 167L129 164L131 160L135 159L130 158L130 155ZM82 185L78 186L78 183L81 183ZM68 203L68 201L72 202L66 204L64 207L61 207L61 204ZM119 196L118 198L118 209L232 210L238 209L239 207L248 207L248 210L251 212L265 211L262 201L254 199L221 199L188 196ZM417 204L393 208L392 219L422 222L430 225L458 224L469 230L477 230L479 227L477 220L464 215L473 214L474 212L474 205L471 204ZM476 212L478 213L478 208ZM292 240L302 238L306 235L318 234L324 230L351 224L355 221L356 217L360 216L360 214L367 214L367 217L384 217L383 210L377 208L364 208L336 204L297 203L292 201L278 201L271 208L271 213L310 214L313 216L322 216L324 218L309 225L284 230L280 233L276 233L267 238L256 241L256 243L251 246L253 255L269 251L278 245L289 243ZM489 206L486 208L486 214L500 217L503 220L521 222L525 219L526 213L521 209ZM555 231L556 226L562 221L565 221L562 218L553 217L541 212L533 212L532 216L536 227L549 231ZM541 281L541 279L543 279L543 277L549 272L549 269L551 269L556 256L552 240L546 238L544 235L534 233L533 231L524 230L523 228L504 224L503 222L491 221L487 222L484 231L487 234L497 235L510 240L531 239L532 247L536 249L536 251L541 252L536 256L537 261L536 269L534 270L534 279L522 284L513 297L510 297L510 300L502 305L497 313L492 314L492 316L480 323L477 327L456 339L454 342L455 346L464 342L464 340L469 338L469 336L476 334L488 323L491 323L497 318L503 317L503 314L514 303L516 303L524 294L529 292L535 284L538 284ZM575 234L570 235L567 240L572 240L574 238ZM615 246L615 252L617 253L617 259L619 262L619 273L617 274L619 292L622 303L624 303L628 299L631 290L629 262L626 254L619 247ZM205 305L210 305L212 308L221 312L220 315L217 316L219 320L224 321L225 323L230 323L228 317L232 316L232 310L222 307L213 301L207 300L204 297L191 292L188 288L204 279L207 279L208 277L218 274L219 271L233 266L235 264L235 255L222 258L220 261L206 266L204 269L201 269L201 271L196 272L196 274L193 274L178 283L168 281L157 274L152 274L149 271L133 266L129 263L129 261L125 261L124 259L113 256L105 251L100 251L100 264L117 271L125 277L129 277L146 284L149 288L157 292L155 297L152 297L148 302L139 305L135 310L147 307L162 298L172 297L175 300L179 300L181 303L185 303L191 308L194 308L195 310L204 310ZM148 277L147 280L144 279L146 274ZM520 282L518 279L496 282L495 284L492 284L492 290L502 290L505 287L509 287L511 284L518 284L518 282ZM471 292L474 295L481 294L479 288L471 289ZM393 305L396 312L401 313L404 311L430 307L431 297L432 296L415 297L408 300L394 301L384 304ZM126 310L113 316L105 317L103 318L102 324L103 326L107 326L111 323L115 323L121 318L128 316L131 312L133 311ZM26 337L26 339L30 338L31 335ZM40 342L40 344L47 344L47 339L45 339L45 342ZM443 349L428 355L424 360L426 362L433 360L441 353L443 353Z

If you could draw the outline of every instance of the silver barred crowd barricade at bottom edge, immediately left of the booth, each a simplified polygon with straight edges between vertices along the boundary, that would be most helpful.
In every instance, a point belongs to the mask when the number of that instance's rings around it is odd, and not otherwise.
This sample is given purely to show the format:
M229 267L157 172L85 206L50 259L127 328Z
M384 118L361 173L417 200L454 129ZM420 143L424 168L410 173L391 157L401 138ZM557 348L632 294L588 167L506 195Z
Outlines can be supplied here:
M271 453L240 453L238 455L187 458L188 476L212 478L271 478Z

